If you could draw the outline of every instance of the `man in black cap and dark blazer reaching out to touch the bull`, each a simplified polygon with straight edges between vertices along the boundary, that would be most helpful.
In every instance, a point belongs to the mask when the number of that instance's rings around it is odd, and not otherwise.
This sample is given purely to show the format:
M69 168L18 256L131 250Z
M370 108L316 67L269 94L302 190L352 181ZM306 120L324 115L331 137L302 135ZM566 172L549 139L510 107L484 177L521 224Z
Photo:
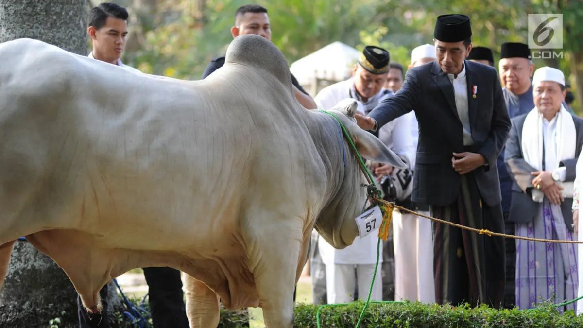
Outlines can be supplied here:
M434 217L503 232L496 158L510 120L496 70L465 60L471 36L468 16L439 16L437 60L409 69L403 88L357 122L375 131L415 110L419 144L412 200L430 204ZM434 276L438 303L499 307L503 240L434 224Z

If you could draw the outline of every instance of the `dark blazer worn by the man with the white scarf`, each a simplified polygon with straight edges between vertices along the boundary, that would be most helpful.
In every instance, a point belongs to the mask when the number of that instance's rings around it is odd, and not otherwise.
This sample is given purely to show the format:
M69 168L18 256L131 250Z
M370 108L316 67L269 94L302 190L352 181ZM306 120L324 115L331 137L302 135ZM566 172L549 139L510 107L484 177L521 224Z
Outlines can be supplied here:
M533 201L531 196L531 190L535 187L532 185L532 179L535 179L535 176L532 176L531 172L536 171L536 169L532 168L522 158L522 127L524 127L526 115L512 118L510 138L508 138L504 151L504 162L512 180L514 180L512 183L510 214L508 214L509 222L531 222L539 211L540 206L540 203ZM581 145L583 145L583 120L573 116L573 121L575 123L575 131L577 131L575 158L563 160L559 163L559 166L565 166L567 170L566 182L575 180L577 155L581 152ZM563 218L565 219L567 228L573 231L571 227L571 224L573 224L571 205L573 205L573 198L565 198L565 201L561 203L561 212L563 212Z

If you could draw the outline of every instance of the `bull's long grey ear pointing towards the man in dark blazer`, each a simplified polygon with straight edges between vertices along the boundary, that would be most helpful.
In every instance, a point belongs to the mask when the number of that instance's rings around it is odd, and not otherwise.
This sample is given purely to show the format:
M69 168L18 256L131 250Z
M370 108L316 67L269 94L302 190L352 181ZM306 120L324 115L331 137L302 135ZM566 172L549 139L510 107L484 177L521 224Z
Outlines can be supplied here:
M387 163L395 168L405 169L407 165L385 144L370 132L364 131L356 124L350 124L350 134L354 138L356 149L366 159L378 163Z

